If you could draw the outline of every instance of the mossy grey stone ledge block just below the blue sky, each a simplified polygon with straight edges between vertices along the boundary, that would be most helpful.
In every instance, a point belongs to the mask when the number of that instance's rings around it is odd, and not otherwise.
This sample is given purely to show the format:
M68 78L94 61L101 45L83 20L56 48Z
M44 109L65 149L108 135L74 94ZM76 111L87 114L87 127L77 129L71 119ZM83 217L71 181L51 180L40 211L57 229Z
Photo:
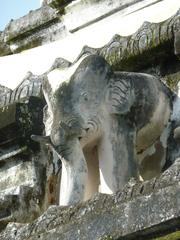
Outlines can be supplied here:
M57 12L49 6L44 6L10 21L2 33L2 40L0 39L2 47L7 45L9 51L5 51L6 47L0 55L37 47L64 35L66 30Z

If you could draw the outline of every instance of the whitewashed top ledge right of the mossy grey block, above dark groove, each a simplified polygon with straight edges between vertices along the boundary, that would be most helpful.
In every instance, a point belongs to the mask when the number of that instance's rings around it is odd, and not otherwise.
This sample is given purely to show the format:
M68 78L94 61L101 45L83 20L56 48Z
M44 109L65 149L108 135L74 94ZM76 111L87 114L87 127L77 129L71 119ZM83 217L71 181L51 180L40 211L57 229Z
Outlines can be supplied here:
M66 7L66 14L63 19L67 29L71 32L76 28L97 22L99 17L102 19L102 16L108 16L112 12L125 16L158 1L143 0L134 4L134 0L101 0L89 1L89 3L88 1L76 0ZM127 5L130 7L127 7Z

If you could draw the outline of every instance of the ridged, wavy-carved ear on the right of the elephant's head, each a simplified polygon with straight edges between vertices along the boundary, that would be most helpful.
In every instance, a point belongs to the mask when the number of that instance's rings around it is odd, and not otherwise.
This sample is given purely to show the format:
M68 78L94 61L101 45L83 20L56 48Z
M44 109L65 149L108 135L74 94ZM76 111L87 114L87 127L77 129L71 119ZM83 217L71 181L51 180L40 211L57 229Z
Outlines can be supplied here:
M126 114L134 103L132 81L128 73L115 73L110 79L107 95L108 111L111 114Z

